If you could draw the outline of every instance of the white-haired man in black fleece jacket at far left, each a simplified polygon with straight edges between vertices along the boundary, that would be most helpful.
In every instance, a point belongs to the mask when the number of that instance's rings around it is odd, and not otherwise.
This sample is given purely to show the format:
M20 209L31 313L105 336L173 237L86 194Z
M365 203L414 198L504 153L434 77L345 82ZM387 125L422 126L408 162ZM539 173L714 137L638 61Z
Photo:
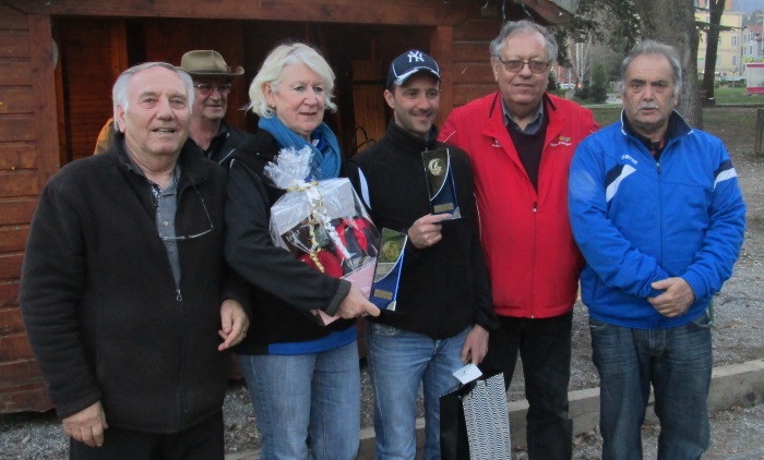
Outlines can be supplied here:
M40 195L21 308L72 459L224 458L223 351L249 319L223 257L225 171L187 143L192 105L186 72L127 70L116 142Z

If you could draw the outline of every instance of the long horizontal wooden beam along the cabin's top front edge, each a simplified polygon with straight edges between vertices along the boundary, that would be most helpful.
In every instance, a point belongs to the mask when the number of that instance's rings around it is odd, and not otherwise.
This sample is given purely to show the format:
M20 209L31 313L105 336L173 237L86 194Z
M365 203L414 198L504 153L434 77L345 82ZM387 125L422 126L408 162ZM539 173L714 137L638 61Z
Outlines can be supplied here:
M474 0L5 0L43 15L199 17L205 20L454 25L480 8Z

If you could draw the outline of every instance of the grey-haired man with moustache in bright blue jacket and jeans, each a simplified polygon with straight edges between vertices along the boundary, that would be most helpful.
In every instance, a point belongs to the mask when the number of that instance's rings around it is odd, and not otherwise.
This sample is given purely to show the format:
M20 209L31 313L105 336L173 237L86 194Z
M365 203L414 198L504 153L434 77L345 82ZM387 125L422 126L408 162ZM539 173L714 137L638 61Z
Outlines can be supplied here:
M602 458L642 458L652 384L658 458L699 459L709 437L706 311L732 275L745 205L721 142L673 110L676 51L644 41L621 80L621 121L581 143L569 182L586 258L581 288L601 386Z

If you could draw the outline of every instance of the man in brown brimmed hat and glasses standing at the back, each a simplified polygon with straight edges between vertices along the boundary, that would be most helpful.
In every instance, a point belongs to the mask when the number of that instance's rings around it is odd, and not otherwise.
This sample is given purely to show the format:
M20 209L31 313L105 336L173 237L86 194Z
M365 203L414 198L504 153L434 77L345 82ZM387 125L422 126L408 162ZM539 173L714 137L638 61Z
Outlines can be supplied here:
M195 99L191 111L190 138L206 158L223 164L249 136L224 119L231 82L243 75L244 70L241 66L229 68L223 56L213 50L187 52L180 60L179 69L193 78Z

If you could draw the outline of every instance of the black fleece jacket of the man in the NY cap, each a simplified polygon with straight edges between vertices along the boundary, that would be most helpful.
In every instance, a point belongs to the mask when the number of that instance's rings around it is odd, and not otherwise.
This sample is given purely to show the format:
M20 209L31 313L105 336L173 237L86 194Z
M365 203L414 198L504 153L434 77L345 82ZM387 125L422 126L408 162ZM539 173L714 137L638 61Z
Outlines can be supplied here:
M346 172L359 195L359 169L366 179L377 228L406 232L431 213L421 153L446 146L434 141L434 130L430 138L426 142L391 122L380 142L348 160ZM498 327L477 229L473 170L467 154L447 148L462 218L444 221L443 239L428 249L406 244L396 310L371 318L433 339L452 337L476 323L487 330Z

